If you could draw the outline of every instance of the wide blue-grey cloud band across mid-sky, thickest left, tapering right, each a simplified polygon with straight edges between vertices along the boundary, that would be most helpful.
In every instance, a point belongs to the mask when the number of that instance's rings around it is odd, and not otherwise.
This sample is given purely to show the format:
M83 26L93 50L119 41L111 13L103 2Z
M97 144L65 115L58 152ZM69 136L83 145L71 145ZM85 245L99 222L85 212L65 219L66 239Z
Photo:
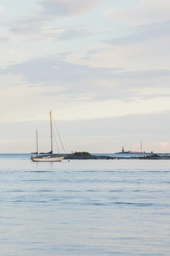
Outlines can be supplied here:
M109 67L90 67L88 65L80 65L65 60L60 57L67 56L71 52L64 52L47 57L31 59L19 64L12 64L7 68L0 69L0 75L15 75L24 77L23 79L29 83L43 83L45 86L57 85L63 83L80 84L89 79L149 79L153 77L169 77L170 70L153 69L124 71L122 68ZM54 68L57 67L57 68Z

